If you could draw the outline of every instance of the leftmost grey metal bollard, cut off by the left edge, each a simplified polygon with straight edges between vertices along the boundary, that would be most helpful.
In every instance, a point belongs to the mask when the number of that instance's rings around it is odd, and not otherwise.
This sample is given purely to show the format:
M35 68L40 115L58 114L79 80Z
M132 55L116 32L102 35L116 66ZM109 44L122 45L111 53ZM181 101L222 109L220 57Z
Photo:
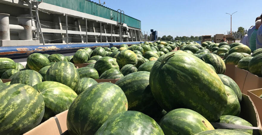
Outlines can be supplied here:
M0 40L10 40L9 16L0 13Z

